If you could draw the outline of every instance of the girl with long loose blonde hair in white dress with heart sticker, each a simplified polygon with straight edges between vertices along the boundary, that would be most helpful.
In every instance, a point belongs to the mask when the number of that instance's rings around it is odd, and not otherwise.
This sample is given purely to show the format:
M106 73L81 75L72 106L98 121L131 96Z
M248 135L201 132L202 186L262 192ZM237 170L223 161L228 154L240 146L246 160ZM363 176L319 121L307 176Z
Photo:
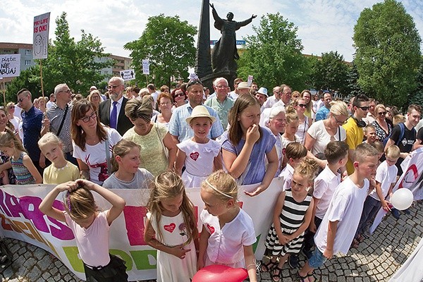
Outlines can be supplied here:
M182 179L160 173L147 207L144 240L157 249L157 281L190 281L197 271L198 230Z

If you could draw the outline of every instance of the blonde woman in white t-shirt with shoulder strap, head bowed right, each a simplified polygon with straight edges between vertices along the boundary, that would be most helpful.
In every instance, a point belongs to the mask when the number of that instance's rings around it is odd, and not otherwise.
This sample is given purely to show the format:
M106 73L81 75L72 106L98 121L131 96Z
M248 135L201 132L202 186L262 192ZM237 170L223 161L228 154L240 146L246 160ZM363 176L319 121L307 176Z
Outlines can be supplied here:
M324 168L327 164L324 160L324 149L331 141L345 141L347 135L342 125L349 116L347 104L342 101L331 102L329 117L314 122L307 130L304 144L309 151L307 157L313 158Z

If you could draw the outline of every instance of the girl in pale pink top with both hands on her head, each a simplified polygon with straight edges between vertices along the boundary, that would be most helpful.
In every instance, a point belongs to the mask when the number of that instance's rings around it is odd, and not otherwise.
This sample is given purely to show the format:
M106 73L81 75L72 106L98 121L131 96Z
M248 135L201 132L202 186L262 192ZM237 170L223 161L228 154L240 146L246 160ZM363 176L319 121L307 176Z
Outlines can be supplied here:
M60 192L67 191L63 200L65 211L53 207ZM100 212L92 191L111 204ZM87 281L128 281L125 262L109 255L109 229L122 213L125 200L88 180L62 183L47 194L39 204L39 210L58 221L66 222L75 235L80 258L84 264Z

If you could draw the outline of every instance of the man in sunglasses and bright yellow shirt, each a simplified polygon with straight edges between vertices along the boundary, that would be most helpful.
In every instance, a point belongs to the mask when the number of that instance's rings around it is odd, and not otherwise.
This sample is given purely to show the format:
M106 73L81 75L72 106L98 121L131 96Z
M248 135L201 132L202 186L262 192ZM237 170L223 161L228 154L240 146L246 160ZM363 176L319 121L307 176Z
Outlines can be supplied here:
M355 148L363 142L364 131L363 128L366 126L363 118L367 116L369 111L369 97L364 94L358 94L355 96L353 101L354 114L348 118L343 128L347 134L345 142L348 144L350 149L348 150L348 161L347 161L347 172L348 175L354 172L353 156Z

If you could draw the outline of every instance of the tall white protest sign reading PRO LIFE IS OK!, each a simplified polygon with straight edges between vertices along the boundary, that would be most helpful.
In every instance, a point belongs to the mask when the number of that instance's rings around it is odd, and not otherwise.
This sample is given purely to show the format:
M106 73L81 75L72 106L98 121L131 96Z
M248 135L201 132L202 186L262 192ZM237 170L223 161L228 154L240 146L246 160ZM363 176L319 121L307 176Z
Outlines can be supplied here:
M49 46L50 13L34 17L34 37L32 54L34 59L47 59Z

